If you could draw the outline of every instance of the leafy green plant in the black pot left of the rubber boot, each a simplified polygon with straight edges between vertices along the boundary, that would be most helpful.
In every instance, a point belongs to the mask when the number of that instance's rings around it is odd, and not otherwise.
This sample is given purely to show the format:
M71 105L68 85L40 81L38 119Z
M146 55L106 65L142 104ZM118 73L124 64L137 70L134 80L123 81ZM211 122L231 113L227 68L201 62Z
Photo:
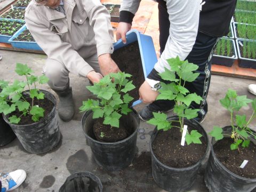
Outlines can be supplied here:
M0 93L0 113L8 115L15 110L20 111L20 116L12 115L8 118L10 123L13 124L19 124L21 117L28 114L31 115L31 119L34 122L38 122L41 117L44 117L44 109L34 105L34 99L44 99L44 93L39 92L36 86L47 83L49 79L45 75L39 77L32 75L33 70L22 63L17 63L15 72L19 76L25 77L26 81L15 79L12 84L8 85L2 82L4 87ZM28 87L31 102L28 102L22 94L26 86Z

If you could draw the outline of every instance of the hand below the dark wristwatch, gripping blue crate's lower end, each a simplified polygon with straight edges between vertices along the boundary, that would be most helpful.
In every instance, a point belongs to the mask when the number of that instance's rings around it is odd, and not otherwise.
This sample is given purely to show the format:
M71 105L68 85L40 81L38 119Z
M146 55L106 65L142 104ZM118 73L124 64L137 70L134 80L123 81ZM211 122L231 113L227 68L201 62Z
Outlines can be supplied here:
M144 82L139 89L140 99L145 103L151 103L156 100L159 92L153 91L148 82Z

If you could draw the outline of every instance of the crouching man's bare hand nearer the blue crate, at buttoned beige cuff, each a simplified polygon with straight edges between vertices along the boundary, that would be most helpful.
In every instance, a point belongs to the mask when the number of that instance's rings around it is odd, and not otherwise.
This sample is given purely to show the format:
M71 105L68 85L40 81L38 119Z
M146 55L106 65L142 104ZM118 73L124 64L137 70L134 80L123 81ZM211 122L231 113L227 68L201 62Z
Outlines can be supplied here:
M111 59L110 54L102 54L98 59L100 71L103 76L108 75L109 73L117 73L121 71L115 61Z

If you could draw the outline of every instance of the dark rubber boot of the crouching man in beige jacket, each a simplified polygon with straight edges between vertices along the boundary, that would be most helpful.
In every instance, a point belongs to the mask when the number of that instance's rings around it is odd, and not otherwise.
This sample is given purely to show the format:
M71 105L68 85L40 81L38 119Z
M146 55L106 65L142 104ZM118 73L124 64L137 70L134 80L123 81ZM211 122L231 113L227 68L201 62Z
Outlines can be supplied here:
M60 102L58 105L58 114L62 121L68 122L70 121L74 114L74 101L72 96L72 88L67 87L64 90L53 90L58 94Z

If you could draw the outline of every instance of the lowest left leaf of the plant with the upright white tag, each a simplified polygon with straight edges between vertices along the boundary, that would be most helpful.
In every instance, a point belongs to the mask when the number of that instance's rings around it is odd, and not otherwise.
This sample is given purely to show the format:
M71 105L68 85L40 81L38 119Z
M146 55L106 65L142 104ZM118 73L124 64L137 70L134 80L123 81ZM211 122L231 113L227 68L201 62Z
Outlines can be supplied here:
M149 124L156 125L158 130L163 129L164 131L167 131L171 128L171 123L166 120L166 114L153 112L153 115L154 118L147 121Z

